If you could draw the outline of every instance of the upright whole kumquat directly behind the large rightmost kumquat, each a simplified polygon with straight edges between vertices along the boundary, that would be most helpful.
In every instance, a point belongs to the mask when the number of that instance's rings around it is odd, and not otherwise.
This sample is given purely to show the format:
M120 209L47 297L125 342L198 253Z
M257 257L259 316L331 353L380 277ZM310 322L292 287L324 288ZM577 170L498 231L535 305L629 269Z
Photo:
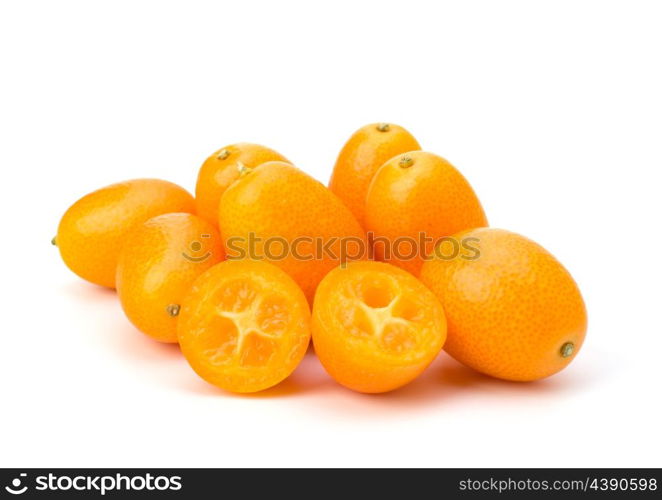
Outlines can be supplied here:
M386 238L401 258L391 264L418 274L423 255L434 242L458 231L487 226L483 207L464 176L440 156L413 151L387 161L375 174L366 198L366 229L375 241ZM431 241L416 250L403 238L419 242L420 233ZM399 241L400 243L395 243ZM384 245L375 244L375 256L385 259ZM413 250L413 251L412 251ZM417 254L415 258L410 256Z

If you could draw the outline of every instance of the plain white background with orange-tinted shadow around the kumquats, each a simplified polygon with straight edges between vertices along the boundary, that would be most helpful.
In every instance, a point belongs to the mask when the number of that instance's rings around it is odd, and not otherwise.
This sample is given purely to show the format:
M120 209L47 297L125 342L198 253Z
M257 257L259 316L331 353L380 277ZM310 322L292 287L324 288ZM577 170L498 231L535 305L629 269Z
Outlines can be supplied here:
M2 2L0 466L662 466L661 24L652 1ZM366 396L308 356L233 396L50 245L81 195L192 190L237 141L326 182L374 121L570 269L590 326L567 370L513 384L442 355Z

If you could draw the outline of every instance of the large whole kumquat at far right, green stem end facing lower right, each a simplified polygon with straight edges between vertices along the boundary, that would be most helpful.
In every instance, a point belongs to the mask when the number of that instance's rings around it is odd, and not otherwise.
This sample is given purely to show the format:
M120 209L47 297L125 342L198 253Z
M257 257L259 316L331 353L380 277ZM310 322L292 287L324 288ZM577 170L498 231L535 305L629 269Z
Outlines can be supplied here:
M548 377L570 363L582 346L586 307L577 284L537 243L502 229L475 229L455 236L475 238L477 259L435 258L421 280L444 306L446 351L482 373L513 381ZM439 255L452 256L450 247ZM573 353L561 353L572 343Z

